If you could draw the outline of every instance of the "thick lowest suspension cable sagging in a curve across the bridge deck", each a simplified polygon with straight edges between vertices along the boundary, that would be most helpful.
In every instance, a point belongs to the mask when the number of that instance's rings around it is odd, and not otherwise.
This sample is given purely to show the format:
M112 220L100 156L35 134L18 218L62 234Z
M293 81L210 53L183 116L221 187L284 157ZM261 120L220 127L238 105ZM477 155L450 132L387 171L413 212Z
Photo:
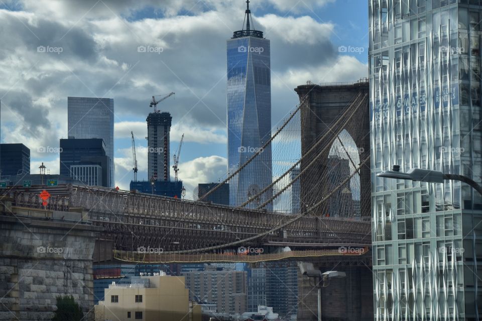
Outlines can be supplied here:
M365 164L370 160L370 156L369 157L366 157L364 159L364 161L362 163L360 163L360 165L355 169L355 171L353 173L351 173L350 176L348 176L343 182L342 184L338 185L336 188L334 188L328 195L326 195L325 197L323 197L323 199L321 201L319 201L317 204L313 205L311 208L309 208L308 210L306 210L304 213L300 213L298 215L296 215L295 217L293 217L292 219L288 220L287 222L285 223L282 223L278 226L275 226L274 228L264 232L264 233L260 233L258 235L255 235L255 236L252 236L252 237L249 237L249 238L246 238L246 239L243 239L243 240L238 240L238 241L234 241L234 242L229 242L229 243L226 243L226 244L221 244L221 245L215 245L215 246L209 246L209 247L204 247L204 248L200 248L200 249L192 249L192 250L181 250L181 251L166 251L166 252L163 252L163 254L187 254L187 253L193 253L193 252L205 252L205 251L211 251L211 250L217 250L217 249L222 249L222 248L226 248L226 247L231 247L231 246L236 246L236 245L242 245L242 244L249 244L249 242L251 241L254 241L258 238L261 238L261 237L264 237L264 236L267 236L269 235L270 233L272 232L276 232L280 229L282 229L283 227L286 227L290 224L293 224L294 222L298 221L299 219L303 218L304 216L306 216L307 214L311 213L312 211L314 211L316 208L318 208L320 205L322 205L324 202L326 202L327 200L330 199L331 196L333 196L344 184L346 184L347 182L349 182L349 180L355 176L355 174L358 173L358 171L363 167L365 166Z

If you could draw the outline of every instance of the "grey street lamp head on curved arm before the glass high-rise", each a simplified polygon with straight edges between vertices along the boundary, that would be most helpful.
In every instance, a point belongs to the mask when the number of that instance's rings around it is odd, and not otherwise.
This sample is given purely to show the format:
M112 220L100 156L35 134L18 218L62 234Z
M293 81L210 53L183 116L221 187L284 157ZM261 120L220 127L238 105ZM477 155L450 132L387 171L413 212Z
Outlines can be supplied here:
M470 185L480 195L482 195L482 187L463 175L444 174L438 171L411 169L407 173L400 172L400 165L394 165L391 171L384 171L377 174L378 177L384 177L397 180L420 181L427 183L443 183L444 180L460 181Z

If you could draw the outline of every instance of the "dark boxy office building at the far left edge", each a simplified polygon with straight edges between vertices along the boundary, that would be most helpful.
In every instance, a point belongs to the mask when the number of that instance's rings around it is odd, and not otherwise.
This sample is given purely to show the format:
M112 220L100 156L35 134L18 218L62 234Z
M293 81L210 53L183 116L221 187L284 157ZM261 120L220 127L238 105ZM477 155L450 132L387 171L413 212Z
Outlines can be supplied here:
M30 174L30 149L24 144L0 144L0 177Z

